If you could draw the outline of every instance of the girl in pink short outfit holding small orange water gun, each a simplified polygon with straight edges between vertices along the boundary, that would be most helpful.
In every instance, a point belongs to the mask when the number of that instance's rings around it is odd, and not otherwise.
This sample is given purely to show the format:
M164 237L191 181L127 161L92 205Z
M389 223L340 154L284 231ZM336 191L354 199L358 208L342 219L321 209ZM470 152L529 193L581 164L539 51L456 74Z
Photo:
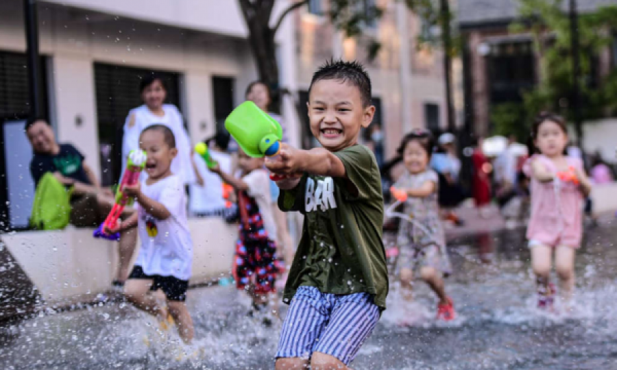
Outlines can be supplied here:
M583 163L568 158L566 122L560 116L541 113L531 129L535 154L524 166L531 177L531 219L527 238L531 265L537 278L538 307L551 309L555 288L548 282L555 253L560 295L568 304L574 288L574 253L583 234L583 199L591 184Z

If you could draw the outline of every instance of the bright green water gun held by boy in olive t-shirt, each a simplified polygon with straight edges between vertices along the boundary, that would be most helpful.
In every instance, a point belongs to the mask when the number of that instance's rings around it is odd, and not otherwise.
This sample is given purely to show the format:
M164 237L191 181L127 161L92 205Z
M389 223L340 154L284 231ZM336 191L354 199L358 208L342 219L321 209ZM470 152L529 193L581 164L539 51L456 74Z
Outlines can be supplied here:
M252 101L237 106L225 120L225 128L247 156L274 158L278 155L282 127ZM270 175L270 178L278 181L285 176Z

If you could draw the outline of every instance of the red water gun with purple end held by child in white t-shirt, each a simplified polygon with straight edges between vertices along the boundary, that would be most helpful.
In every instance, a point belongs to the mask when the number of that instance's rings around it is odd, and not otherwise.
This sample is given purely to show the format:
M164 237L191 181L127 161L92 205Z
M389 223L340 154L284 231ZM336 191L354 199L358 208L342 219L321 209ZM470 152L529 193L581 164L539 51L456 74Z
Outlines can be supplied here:
M128 164L126 166L126 170L124 171L124 175L122 176L122 182L118 187L116 192L116 203L112 207L111 212L109 212L105 222L102 223L97 230L94 232L95 238L105 238L108 240L119 240L120 234L115 233L109 235L105 232L106 229L113 230L118 223L118 219L120 218L122 211L125 206L130 206L132 204L133 199L129 198L128 195L125 195L123 192L125 186L134 186L139 181L139 175L141 171L145 167L147 156L145 151L143 150L132 150L129 153Z

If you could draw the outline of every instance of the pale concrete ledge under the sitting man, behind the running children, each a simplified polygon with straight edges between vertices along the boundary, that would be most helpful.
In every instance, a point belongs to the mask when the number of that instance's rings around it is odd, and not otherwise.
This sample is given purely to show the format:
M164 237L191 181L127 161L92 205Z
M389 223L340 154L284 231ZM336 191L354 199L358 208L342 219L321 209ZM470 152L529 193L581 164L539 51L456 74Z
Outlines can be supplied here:
M229 273L237 227L209 218L191 219L189 228L194 251L191 283ZM108 291L116 272L117 243L95 239L92 232L74 227L18 232L3 235L2 241L46 304L67 303ZM15 282L0 281L1 286L11 284Z

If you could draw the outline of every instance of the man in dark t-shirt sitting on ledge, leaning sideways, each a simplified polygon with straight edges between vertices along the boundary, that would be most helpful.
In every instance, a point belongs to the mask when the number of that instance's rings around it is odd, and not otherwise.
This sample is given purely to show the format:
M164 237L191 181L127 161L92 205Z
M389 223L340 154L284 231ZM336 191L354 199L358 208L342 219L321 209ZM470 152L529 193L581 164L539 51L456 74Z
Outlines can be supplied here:
M51 172L64 186L73 187L70 222L76 227L98 227L114 204L114 194L101 188L93 170L84 162L84 156L71 144L58 144L51 126L45 119L29 119L25 133L32 145L34 158L30 173L35 186L45 173ZM125 214L134 212L125 210ZM126 230L120 238L120 263L114 286L121 286L128 277L130 259L135 249L137 234Z

